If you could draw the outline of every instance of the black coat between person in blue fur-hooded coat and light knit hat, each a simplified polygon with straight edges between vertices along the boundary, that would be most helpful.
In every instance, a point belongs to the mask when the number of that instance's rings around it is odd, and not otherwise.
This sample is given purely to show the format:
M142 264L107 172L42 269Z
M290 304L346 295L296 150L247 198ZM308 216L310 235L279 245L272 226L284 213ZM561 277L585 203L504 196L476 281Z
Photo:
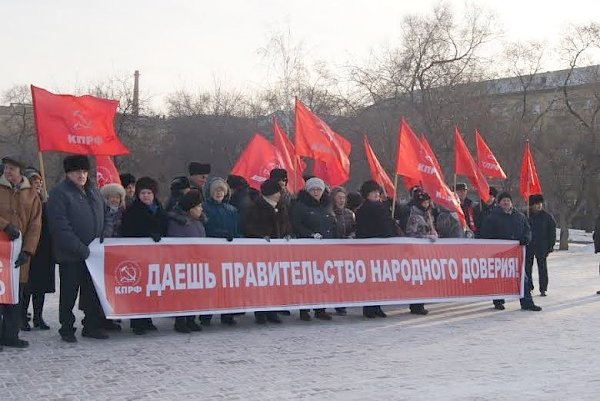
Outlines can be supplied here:
M289 213L281 202L273 207L261 196L246 210L243 232L248 238L283 238L291 235Z

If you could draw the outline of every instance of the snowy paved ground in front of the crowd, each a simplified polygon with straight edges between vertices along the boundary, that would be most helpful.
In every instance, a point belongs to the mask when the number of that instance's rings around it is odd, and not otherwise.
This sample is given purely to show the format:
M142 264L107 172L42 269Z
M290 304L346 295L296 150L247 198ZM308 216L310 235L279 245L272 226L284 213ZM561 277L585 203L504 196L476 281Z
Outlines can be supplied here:
M78 344L59 341L53 295L52 330L0 353L0 400L597 400L599 259L590 246L553 254L539 313L437 304L425 317L399 306L387 319L350 309L305 323L295 312L264 327L246 315L189 335L156 319L143 337L78 332Z

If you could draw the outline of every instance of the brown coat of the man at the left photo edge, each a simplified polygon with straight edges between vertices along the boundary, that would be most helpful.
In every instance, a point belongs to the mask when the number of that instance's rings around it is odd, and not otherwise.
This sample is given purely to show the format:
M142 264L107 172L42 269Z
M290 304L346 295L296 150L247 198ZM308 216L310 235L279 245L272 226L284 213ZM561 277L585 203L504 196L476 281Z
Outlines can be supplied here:
M42 202L27 177L16 188L0 176L0 230L12 224L22 235L21 250L33 254L42 230ZM21 266L19 282L29 279L29 263Z

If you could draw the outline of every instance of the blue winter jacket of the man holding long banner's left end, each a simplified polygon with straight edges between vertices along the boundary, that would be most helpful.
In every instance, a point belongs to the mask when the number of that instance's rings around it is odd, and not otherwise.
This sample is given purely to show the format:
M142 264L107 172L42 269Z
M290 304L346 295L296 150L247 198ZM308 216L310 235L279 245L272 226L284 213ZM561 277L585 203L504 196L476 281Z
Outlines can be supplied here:
M104 207L100 191L89 180L83 190L68 178L52 188L48 222L58 263L87 259L88 245L104 230Z

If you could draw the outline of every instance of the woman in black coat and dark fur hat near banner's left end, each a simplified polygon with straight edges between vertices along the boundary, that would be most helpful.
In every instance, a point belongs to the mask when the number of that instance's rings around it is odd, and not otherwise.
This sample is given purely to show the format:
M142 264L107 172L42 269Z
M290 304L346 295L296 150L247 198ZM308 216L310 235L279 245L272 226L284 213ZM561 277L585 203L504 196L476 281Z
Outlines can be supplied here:
M167 234L167 214L157 195L158 183L154 179L142 177L136 181L135 199L123 213L123 237L150 237L154 242L159 242ZM130 325L137 335L156 330L150 318L131 319Z

